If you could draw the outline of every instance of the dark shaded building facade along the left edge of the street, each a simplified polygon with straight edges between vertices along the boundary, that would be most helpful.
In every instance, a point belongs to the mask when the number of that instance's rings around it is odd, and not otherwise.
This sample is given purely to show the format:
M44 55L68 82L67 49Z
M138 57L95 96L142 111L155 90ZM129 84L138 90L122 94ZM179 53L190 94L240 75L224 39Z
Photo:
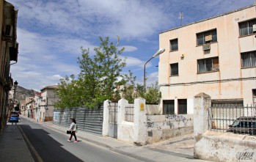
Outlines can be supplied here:
M10 65L11 61L17 62L18 59L17 15L18 10L12 4L0 0L0 131L6 125L10 110L8 95L13 84Z

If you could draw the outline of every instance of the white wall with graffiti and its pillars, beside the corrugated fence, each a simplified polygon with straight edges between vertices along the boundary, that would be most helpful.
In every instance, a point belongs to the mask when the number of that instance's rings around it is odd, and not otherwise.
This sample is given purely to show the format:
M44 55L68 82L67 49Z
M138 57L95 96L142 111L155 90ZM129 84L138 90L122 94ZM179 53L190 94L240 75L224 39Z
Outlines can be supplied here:
M112 136L113 128L109 123L109 106L111 101L104 102L103 109L103 136ZM153 144L175 136L193 132L193 115L148 115L147 112L160 112L155 106L145 106L145 99L134 100L134 122L125 121L125 106L128 100L118 101L117 109L117 139L138 145Z

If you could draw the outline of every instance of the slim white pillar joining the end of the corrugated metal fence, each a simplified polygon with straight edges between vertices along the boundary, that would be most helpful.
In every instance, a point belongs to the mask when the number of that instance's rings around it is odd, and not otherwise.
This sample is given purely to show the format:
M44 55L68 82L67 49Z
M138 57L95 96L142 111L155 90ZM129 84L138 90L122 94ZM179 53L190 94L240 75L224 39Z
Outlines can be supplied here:
M102 123L102 136L109 135L109 102L105 100L103 104L103 123Z

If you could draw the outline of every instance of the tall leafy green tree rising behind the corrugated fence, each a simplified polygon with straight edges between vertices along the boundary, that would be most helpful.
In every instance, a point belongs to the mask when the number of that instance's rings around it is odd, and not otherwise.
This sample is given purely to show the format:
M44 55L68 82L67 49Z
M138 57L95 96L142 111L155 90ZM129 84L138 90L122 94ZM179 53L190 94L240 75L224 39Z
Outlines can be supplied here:
M118 45L119 37L117 45L109 43L109 37L100 37L100 46L94 48L93 56L89 54L89 48L81 47L81 57L78 57L81 72L77 79L72 75L60 80L57 90L60 100L56 103L57 108L95 108L104 100L120 99L117 86L125 85L128 80L121 73L126 65L125 59L120 59L125 48L119 48Z

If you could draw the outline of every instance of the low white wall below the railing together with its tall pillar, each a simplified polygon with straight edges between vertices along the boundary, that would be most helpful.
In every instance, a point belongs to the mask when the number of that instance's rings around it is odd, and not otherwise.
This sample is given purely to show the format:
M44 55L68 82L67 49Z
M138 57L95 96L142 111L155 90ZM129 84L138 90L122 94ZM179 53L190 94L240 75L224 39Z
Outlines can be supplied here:
M211 97L194 97L194 158L207 161L256 161L256 136L208 130Z

